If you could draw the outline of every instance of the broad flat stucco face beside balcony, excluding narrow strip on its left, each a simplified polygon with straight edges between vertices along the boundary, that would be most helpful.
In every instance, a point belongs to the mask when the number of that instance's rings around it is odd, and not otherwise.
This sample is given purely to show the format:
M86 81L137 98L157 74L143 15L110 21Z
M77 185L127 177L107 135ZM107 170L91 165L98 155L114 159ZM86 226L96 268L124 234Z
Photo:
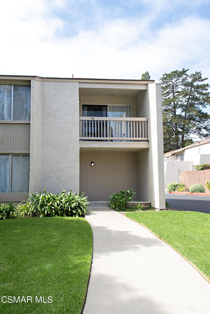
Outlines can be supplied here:
M79 157L79 84L42 82L42 190L79 192Z

